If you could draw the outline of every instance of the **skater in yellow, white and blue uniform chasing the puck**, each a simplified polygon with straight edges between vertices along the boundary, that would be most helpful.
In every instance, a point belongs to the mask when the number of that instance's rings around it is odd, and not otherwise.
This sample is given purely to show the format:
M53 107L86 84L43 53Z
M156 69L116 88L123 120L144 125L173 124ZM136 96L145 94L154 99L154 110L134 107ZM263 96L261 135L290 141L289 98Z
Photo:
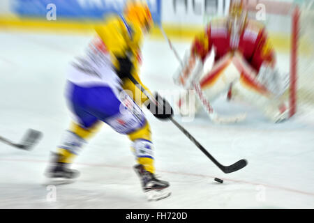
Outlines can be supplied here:
M128 135L137 160L134 169L148 199L170 196L167 188L170 184L156 178L151 131L140 109L142 105L147 106L156 118L163 120L173 114L170 104L160 95L152 95L138 76L142 39L152 25L147 3L128 1L122 15L107 17L104 25L96 26L97 37L89 45L87 55L70 66L66 98L75 120L64 133L45 172L52 182L61 180L59 182L63 183L77 178L78 171L68 166L96 132L99 123L104 122L113 130ZM157 107L128 79L128 75L158 101Z

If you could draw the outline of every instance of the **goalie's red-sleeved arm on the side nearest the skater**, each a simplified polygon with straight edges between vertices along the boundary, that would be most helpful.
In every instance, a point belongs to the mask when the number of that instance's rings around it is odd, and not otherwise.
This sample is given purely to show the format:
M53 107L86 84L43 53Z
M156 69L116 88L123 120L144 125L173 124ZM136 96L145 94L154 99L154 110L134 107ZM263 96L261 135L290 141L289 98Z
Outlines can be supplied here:
M184 56L182 66L174 75L174 83L189 89L193 81L199 79L203 71L203 63L211 50L210 25L195 36L193 43Z

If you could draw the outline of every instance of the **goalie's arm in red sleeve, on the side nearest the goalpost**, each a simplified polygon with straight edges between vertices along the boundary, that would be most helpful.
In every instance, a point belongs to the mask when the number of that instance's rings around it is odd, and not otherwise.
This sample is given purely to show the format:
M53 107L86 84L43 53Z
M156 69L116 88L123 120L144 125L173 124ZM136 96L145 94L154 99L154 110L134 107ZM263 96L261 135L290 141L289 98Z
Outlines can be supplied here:
M289 74L276 69L274 47L265 29L260 31L257 40L251 61L251 66L257 70L257 80L275 95L282 95L289 86Z

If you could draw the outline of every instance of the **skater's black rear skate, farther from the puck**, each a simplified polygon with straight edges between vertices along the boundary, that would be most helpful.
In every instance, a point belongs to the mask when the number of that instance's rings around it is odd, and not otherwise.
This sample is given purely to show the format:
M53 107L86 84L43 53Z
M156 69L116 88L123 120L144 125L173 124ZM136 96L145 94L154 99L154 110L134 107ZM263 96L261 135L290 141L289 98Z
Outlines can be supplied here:
M61 155L52 153L52 161L45 172L45 176L49 178L48 184L66 184L73 183L74 179L80 175L75 169L69 169L68 163L59 162Z

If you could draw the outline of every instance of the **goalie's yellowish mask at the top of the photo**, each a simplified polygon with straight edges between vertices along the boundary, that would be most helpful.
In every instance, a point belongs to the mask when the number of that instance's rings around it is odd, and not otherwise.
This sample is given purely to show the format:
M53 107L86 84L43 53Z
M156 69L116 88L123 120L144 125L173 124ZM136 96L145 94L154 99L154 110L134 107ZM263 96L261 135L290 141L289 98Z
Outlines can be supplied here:
M230 46L235 49L239 45L239 36L244 29L247 20L246 3L244 0L232 0L230 2L228 25L230 29Z

